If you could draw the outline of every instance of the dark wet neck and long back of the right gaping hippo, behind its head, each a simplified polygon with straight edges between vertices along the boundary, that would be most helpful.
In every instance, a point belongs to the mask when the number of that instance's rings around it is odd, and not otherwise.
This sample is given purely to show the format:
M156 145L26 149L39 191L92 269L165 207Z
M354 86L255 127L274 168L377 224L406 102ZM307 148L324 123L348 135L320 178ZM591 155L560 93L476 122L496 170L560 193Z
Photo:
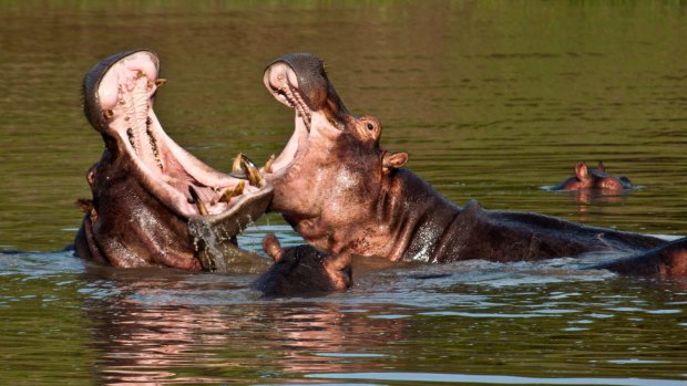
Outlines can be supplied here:
M406 169L390 176L377 211L378 223L391 234L386 257L392 261L534 261L593 251L639 252L665 242L543 215L484 210L474 200L460 208Z

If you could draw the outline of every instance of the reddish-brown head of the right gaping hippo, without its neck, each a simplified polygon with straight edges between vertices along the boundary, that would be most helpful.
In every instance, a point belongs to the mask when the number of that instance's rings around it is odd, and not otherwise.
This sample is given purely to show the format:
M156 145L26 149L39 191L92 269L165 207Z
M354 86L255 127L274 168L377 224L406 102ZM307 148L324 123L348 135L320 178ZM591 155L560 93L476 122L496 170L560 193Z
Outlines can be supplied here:
M281 56L266 69L264 82L296 113L291 138L264 170L275 189L270 210L308 242L339 253L357 242L353 232L365 231L362 221L383 199L388 176L408 155L379 146L378 119L348 113L317 56Z

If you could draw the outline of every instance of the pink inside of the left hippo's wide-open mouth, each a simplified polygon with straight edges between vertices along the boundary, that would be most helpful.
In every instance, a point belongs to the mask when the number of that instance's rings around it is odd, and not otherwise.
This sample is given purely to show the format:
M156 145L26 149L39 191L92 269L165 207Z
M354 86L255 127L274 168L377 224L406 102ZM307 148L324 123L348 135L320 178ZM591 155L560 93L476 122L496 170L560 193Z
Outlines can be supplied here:
M189 202L189 187L198 194L209 215L224 212L229 202L221 200L224 192L240 181L205 165L170 138L153 112L157 90L157 59L151 52L135 52L107 70L98 94L107 132L115 133L125 144L140 180L168 208L184 217L198 215ZM244 194L259 188L246 184Z

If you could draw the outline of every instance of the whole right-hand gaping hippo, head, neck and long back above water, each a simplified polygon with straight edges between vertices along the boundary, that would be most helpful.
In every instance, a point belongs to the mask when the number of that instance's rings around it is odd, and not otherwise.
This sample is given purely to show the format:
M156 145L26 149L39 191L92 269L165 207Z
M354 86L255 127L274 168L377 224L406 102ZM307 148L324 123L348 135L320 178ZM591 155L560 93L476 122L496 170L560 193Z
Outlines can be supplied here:
M406 153L380 147L381 125L348 113L322 62L287 54L265 71L264 82L296 112L295 131L265 178L275 189L270 210L316 248L391 261L466 259L531 261L608 251L633 255L617 272L687 274L685 253L662 258L667 241L529 213L492 211L476 201L459 207L412 171ZM654 269L632 270L637 261Z

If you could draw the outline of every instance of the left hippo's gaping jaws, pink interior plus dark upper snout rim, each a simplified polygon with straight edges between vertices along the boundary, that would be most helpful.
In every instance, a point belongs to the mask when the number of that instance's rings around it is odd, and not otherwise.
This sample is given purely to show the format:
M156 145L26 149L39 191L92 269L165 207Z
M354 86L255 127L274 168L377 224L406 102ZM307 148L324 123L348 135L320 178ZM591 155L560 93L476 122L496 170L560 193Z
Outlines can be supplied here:
M266 207L270 186L246 186L246 195L238 195L240 179L205 165L166 135L152 108L156 88L164 84L158 67L157 56L147 50L119 53L94 65L83 83L91 125L114 139L106 139L107 146L129 156L131 176L182 218L232 216L229 209L247 202L245 196L260 198Z

